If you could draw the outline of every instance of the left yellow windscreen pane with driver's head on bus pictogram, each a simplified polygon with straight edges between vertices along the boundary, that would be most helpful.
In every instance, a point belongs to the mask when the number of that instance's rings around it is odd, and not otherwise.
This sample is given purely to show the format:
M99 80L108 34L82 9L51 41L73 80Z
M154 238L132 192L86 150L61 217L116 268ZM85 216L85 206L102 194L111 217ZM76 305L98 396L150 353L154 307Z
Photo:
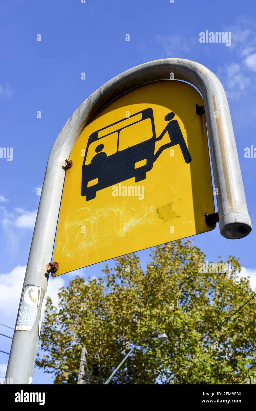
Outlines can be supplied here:
M102 137L97 141L93 141L92 143L90 143L88 147L85 165L88 166L88 164L91 163L93 157L95 157L95 155L97 155L97 153L99 152L105 152L107 157L112 154L115 154L115 152L117 152L117 147L118 132L109 134L108 136Z

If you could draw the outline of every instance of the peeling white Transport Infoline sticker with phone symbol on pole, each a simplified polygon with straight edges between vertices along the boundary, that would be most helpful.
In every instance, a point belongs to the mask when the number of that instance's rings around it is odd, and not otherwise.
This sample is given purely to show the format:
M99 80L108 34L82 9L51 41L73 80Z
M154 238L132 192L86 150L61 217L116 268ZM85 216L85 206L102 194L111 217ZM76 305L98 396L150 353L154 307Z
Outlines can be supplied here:
M37 318L41 287L26 285L21 298L16 330L31 331Z

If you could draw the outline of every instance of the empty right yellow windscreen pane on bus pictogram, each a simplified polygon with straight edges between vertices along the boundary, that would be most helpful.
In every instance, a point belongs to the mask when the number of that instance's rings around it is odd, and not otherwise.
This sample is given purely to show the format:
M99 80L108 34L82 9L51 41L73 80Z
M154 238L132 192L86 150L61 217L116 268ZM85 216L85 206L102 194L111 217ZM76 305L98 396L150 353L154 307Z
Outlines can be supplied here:
M133 145L143 143L153 136L152 123L150 118L132 124L120 130L118 151L125 150Z

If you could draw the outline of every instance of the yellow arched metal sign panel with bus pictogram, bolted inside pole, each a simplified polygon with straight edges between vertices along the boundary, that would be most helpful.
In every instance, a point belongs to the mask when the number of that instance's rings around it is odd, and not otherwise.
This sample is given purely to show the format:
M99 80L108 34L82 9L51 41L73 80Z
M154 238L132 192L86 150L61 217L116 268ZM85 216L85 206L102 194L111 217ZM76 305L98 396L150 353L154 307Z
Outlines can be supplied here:
M156 81L111 102L69 159L56 275L210 231L214 213L205 115L197 90Z

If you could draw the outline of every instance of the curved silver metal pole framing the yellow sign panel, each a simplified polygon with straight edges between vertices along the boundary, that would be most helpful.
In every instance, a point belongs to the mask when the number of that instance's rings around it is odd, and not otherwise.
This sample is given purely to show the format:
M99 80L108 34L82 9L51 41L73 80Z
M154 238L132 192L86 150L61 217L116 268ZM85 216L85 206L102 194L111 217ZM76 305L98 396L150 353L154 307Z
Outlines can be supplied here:
M120 74L102 85L71 115L51 150L37 219L28 258L23 287L42 287L39 312L47 289L46 264L51 261L55 230L65 178L65 159L92 118L107 104L134 87L150 81L185 80L201 92L205 105L215 187L219 189L217 205L219 229L226 238L242 238L251 231L235 138L224 89L217 77L206 67L178 58L151 61ZM218 117L214 117L214 114ZM31 381L38 343L39 315L31 331L14 331L7 378L14 384Z

